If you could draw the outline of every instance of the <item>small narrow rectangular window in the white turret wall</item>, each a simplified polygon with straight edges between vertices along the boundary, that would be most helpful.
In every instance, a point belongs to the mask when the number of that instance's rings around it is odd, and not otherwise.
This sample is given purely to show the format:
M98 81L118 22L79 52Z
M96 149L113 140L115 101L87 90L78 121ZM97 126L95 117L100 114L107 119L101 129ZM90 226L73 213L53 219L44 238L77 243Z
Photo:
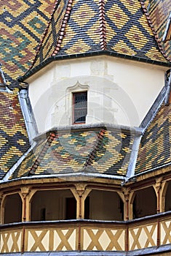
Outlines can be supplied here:
M73 93L73 124L84 124L87 116L87 91Z

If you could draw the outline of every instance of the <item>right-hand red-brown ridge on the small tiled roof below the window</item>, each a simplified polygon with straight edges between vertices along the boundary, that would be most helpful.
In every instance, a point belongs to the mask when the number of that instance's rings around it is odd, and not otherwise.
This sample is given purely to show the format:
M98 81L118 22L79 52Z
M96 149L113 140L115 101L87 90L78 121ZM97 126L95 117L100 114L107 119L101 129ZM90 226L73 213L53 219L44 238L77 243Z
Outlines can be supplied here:
M97 151L99 151L99 148L103 142L105 133L106 133L106 129L100 129L100 132L98 133L98 138L97 138L97 140L95 140L95 144L92 147L92 151L90 152L89 157L84 164L85 167L87 167L87 165L92 165L92 162L95 159L95 155L96 155Z

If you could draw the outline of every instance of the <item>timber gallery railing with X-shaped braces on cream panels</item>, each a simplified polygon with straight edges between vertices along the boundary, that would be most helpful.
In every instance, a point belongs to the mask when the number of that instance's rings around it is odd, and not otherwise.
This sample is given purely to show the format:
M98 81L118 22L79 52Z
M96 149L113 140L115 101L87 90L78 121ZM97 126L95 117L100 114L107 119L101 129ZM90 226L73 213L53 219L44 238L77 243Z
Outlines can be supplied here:
M0 233L0 253L134 251L171 244L171 211L127 222L20 222L1 225Z

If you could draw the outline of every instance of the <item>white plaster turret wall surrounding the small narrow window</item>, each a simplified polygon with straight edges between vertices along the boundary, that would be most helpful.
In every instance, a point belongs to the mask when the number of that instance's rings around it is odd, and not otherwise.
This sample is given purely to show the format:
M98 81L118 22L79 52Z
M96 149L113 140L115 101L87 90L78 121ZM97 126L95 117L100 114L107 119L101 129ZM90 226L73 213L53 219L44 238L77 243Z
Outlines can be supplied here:
M139 126L167 68L108 56L55 61L27 80L39 132L72 124L72 92L88 91L87 124Z

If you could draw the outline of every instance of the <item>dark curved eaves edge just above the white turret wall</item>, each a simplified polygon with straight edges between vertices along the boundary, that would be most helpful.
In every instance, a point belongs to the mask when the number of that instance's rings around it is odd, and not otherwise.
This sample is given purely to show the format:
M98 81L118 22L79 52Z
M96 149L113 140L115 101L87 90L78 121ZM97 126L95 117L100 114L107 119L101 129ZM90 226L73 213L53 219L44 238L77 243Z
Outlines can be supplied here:
M114 57L118 57L118 58L122 58L122 59L129 59L132 61L140 61L140 62L144 62L144 63L148 63L148 64L155 64L155 65L159 65L159 66L163 66L163 67L171 67L170 61L168 61L168 62L154 61L154 60L146 59L143 57L128 56L128 55L122 54L122 53L115 53L110 50L97 50L97 51L93 51L90 53L78 53L78 54L75 53L75 54L71 54L71 55L51 56L48 59L46 59L45 61L42 61L41 64L39 64L38 66L34 67L33 69L28 70L28 72L25 73L25 75L18 78L18 81L23 82L27 78L30 78L31 75L36 74L36 72L38 72L43 67L46 67L47 64L51 63L52 61L59 61L59 60L65 60L65 59L77 59L77 58L79 59L79 58L84 58L84 57L102 56L102 55L114 56Z

